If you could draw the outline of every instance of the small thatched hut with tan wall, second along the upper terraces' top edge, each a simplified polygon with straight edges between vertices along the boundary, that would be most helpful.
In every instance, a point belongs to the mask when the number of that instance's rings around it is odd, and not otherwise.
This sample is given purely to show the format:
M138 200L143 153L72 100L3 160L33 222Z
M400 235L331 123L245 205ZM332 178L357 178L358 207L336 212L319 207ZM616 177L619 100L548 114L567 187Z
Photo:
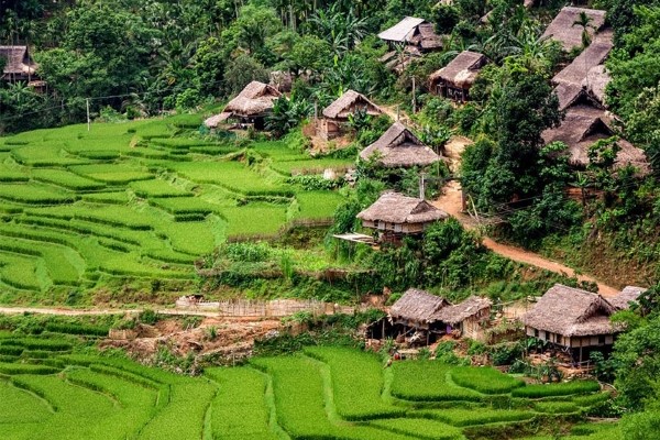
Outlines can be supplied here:
M323 109L323 118L319 121L318 133L321 139L329 141L343 133L343 128L349 122L349 116L358 110L377 117L383 110L370 101L364 95L354 90L346 90L340 98Z

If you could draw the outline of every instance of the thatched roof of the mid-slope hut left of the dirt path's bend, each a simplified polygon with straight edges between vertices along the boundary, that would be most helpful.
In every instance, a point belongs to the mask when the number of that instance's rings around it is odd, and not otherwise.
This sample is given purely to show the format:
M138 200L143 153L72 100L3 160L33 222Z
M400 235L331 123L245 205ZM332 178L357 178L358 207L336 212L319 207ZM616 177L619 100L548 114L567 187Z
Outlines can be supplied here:
M372 206L358 215L361 220L396 224L430 223L447 217L447 212L428 201L398 193L385 193Z

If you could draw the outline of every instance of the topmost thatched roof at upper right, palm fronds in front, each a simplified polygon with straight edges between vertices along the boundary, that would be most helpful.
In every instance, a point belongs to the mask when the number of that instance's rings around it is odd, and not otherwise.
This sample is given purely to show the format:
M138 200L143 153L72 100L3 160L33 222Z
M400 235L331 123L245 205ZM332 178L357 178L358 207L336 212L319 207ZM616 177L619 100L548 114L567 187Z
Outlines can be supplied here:
M574 8L574 7L565 7L563 8L559 14L552 20L552 23L546 29L543 33L544 36L549 36L552 40L557 40L561 43L564 51L571 51L573 47L582 46L582 26L573 25L579 19L580 13L584 12L587 16L592 19L590 25L595 28L596 31L600 30L605 23L605 11L601 11L597 9L584 9L584 8ZM594 31L593 28L587 28L587 32L593 37Z

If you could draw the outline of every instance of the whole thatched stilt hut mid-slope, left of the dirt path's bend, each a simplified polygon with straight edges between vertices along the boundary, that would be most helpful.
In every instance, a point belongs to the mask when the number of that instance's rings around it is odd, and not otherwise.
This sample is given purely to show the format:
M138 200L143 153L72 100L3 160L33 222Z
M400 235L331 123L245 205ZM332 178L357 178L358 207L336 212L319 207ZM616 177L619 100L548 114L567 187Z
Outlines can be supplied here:
M424 199L385 193L358 215L364 228L375 229L381 241L398 242L405 234L419 234L430 224L444 220L447 212Z

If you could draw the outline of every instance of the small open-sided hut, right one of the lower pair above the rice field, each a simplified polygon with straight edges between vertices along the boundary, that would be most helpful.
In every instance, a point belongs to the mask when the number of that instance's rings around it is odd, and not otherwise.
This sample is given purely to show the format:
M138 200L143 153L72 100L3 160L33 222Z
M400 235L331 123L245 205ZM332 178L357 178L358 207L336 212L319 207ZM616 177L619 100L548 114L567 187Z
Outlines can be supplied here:
M471 296L462 302L446 307L438 314L444 322L448 334L458 331L460 336L485 342L484 328L491 321L491 307L493 301L488 298Z

